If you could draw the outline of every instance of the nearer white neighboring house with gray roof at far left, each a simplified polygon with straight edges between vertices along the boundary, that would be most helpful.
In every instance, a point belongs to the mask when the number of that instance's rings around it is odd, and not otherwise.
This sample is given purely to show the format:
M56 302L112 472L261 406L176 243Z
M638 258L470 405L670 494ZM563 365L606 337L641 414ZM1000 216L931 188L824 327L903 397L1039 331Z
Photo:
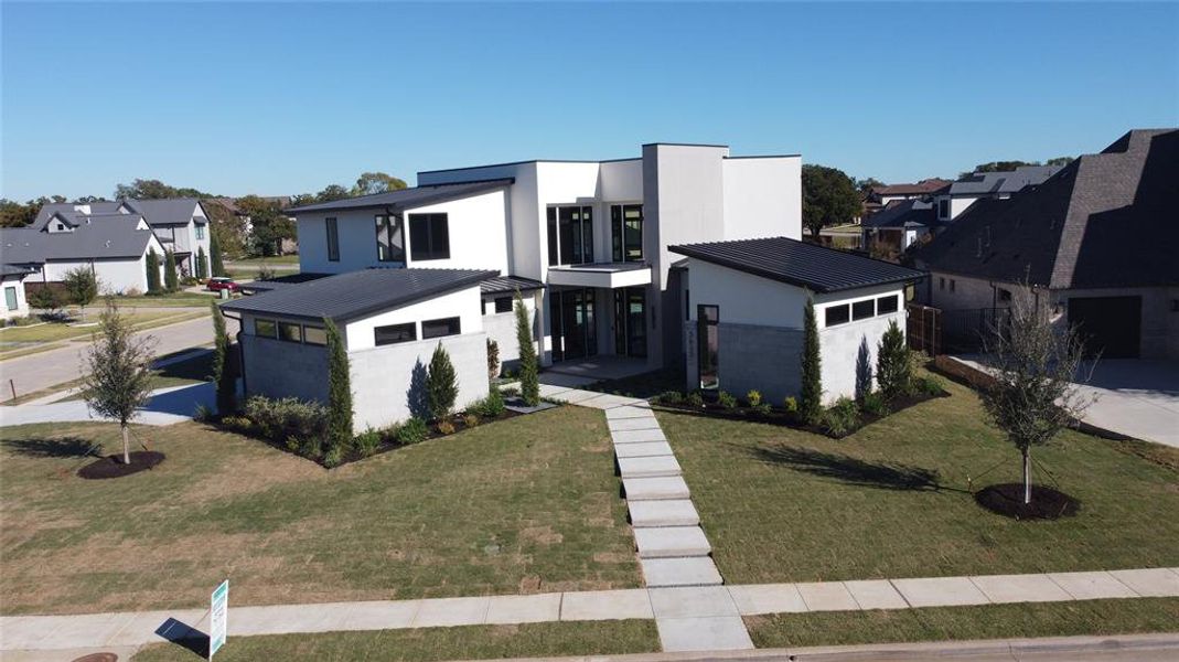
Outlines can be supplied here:
M52 212L41 229L0 229L5 264L25 268L32 286L61 282L66 273L85 267L94 273L103 294L147 289L147 253L163 257L164 245L139 214L77 216Z

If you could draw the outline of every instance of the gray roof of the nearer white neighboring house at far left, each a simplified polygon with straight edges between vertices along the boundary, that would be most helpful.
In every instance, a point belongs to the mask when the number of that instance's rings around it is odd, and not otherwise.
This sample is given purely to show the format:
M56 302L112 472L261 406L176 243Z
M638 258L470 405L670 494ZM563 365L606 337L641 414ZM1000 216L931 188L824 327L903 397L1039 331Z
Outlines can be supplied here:
M137 214L83 223L72 232L41 232L33 228L0 229L0 251L9 264L40 264L46 260L140 257L152 231L137 230Z

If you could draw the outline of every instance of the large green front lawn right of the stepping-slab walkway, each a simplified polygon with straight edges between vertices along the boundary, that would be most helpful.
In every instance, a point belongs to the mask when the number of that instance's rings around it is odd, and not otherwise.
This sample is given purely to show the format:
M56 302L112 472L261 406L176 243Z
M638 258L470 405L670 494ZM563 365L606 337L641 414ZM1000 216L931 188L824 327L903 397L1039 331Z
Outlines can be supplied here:
M1066 432L1034 457L1080 513L1010 520L967 490L1017 481L1019 453L973 392L948 389L838 441L660 412L725 581L1179 565L1179 451Z

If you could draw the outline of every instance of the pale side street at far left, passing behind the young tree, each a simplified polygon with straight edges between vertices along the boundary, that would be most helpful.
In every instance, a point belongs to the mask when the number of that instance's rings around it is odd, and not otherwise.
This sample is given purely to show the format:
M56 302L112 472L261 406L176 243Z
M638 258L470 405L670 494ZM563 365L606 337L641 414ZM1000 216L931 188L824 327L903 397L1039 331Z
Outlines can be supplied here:
M237 321L226 319L226 328L232 336L237 333ZM209 345L213 341L213 325L210 317L177 322L139 332L136 336L156 337L156 354L171 354L189 347ZM12 399L12 380L17 395L33 393L72 381L81 376L81 366L90 341L73 342L61 349L51 349L0 362L0 402Z

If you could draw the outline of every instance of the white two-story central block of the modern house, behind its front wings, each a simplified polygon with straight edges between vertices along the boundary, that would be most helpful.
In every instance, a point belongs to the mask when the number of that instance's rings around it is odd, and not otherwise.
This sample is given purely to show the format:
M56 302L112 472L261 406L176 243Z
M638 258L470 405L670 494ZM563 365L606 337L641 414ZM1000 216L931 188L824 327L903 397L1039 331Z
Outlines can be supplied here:
M798 156L648 144L619 160L420 172L416 188L288 212L298 219L303 273L494 271L535 288L526 306L545 365L618 355L658 368L683 362L684 288L667 247L798 238L801 166ZM514 287L485 291L488 328L509 327ZM514 359L514 333L493 335L506 337L501 358Z

